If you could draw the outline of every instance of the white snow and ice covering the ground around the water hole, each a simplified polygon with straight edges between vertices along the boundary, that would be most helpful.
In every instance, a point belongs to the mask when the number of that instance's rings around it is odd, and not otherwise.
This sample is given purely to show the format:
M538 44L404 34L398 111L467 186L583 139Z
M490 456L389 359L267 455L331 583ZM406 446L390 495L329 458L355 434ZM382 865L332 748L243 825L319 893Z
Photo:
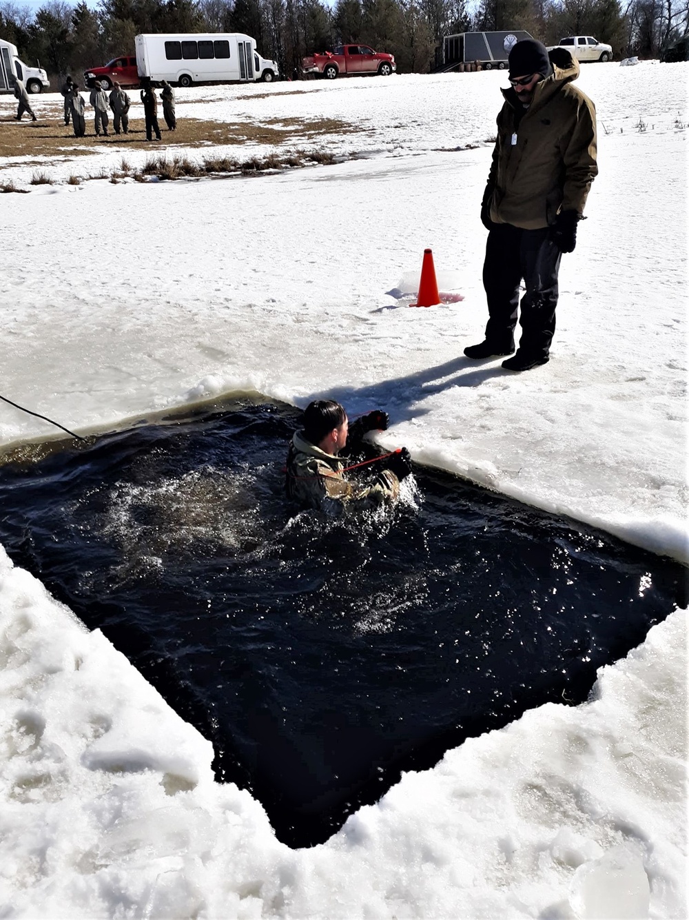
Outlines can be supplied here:
M178 94L179 119L285 120L278 152L310 144L341 157L330 167L70 186L122 152L73 162L67 142L59 164L0 160L0 184L30 189L0 197L0 395L80 433L243 392L380 406L383 446L686 562L688 76L584 66L600 176L562 261L551 361L519 375L462 354L487 318L478 212L498 72ZM61 99L35 101L57 118ZM0 98L0 119L11 111ZM304 141L299 125L324 118L360 130ZM38 167L57 184L30 186ZM463 301L385 293L424 247ZM59 434L0 403L0 445ZM588 704L465 742L299 851L4 554L0 619L0 915L687 914L683 612L603 669Z

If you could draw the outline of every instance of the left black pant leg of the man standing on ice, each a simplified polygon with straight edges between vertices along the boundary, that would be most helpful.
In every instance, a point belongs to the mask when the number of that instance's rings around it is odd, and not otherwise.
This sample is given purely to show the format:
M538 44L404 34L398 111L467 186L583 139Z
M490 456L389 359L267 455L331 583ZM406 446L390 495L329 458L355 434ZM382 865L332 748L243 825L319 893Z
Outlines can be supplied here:
M520 242L523 231L511 224L494 224L488 233L483 286L488 300L486 341L496 351L514 347L519 283L522 281Z

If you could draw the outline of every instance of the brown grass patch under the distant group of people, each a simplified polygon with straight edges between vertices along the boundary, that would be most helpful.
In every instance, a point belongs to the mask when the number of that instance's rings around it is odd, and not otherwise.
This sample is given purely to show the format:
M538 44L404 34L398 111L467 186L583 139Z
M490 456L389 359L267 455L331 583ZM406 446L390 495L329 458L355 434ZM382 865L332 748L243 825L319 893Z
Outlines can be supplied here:
M40 109L39 105L36 106ZM52 106L53 110L57 106ZM51 113L52 114L52 113ZM359 127L338 119L268 119L255 122L204 121L180 118L177 131L168 132L165 121L158 119L163 139L160 142L146 141L143 119L131 118L128 134L110 134L97 137L93 129L93 118L86 116L86 137L75 137L72 127L65 127L56 111L52 118L39 121L15 121L11 117L0 118L0 157L51 156L73 157L92 154L107 149L108 145L118 150L141 150L161 147L208 147L225 144L270 144L281 146L291 141L304 144L328 134L349 134L361 131ZM37 111L38 115L38 111ZM5 166L19 166L8 162Z

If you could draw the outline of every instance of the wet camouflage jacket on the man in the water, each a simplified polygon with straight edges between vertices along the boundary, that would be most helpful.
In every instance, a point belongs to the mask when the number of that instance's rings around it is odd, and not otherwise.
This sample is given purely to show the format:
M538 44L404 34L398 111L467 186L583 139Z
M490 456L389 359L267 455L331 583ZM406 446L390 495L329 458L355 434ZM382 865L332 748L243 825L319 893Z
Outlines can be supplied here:
M389 469L381 470L373 482L346 479L346 461L326 454L306 441L304 431L294 433L287 454L285 489L289 498L305 508L326 509L331 501L356 510L377 508L399 494L399 480Z

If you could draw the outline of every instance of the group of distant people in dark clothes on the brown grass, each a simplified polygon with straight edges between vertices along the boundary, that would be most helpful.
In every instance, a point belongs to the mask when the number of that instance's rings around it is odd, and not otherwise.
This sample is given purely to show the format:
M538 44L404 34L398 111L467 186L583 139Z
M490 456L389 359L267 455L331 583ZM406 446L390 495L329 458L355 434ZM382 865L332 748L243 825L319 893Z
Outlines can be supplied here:
M19 83L20 81L17 81ZM22 86L22 89L24 87ZM90 87L91 92L88 97L90 105L94 109L94 129L96 136L101 134L108 137L109 111L112 112L112 126L116 134L129 133L129 109L132 100L129 93L126 93L119 83L112 86L109 94L98 83L93 83ZM61 93L64 98L64 123L68 125L72 121L72 128L75 137L84 137L86 134L86 102L79 92L79 87L72 79L67 76L64 81ZM15 87L15 96L19 99L19 108L17 110L17 120L21 118L24 111L36 121L36 116L29 107L29 97L24 89L24 98L17 95ZM175 115L175 91L163 80L163 90L160 94L163 102L163 116L167 124L168 131L175 131L177 128L177 118ZM141 91L141 100L144 103L144 116L146 121L146 140L152 141L155 133L156 140L161 140L160 128L158 127L158 100L154 88L150 81L146 83Z

